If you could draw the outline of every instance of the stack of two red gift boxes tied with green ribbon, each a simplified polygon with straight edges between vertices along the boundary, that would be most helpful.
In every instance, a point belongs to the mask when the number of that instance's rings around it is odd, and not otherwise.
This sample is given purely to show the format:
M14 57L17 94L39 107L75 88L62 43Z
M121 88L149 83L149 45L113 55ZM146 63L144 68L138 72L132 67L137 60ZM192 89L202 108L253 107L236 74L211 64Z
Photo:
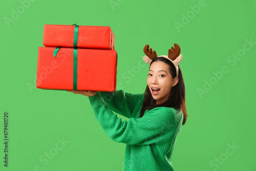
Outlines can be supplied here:
M117 53L108 26L44 25L36 87L50 90L116 90Z

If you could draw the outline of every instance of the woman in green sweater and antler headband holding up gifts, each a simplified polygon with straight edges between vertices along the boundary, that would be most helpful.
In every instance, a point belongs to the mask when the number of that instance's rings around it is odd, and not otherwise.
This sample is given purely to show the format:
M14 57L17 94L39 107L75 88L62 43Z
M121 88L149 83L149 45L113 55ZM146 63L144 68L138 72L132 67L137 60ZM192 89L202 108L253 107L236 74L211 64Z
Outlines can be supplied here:
M172 154L181 126L185 124L186 101L183 75L178 64L180 47L168 56L157 56L144 47L150 64L145 93L73 91L89 97L96 119L108 136L126 144L125 171L174 171ZM122 121L113 113L129 118Z

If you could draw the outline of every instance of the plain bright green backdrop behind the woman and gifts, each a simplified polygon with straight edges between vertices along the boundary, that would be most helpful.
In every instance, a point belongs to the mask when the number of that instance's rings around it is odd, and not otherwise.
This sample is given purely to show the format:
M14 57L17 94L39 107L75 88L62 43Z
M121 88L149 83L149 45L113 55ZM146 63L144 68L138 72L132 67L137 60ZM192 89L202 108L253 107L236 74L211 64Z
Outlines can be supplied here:
M111 27L117 89L130 93L145 90L145 44L158 55L180 45L189 117L175 171L256 171L256 0L1 0L0 17L0 142L9 113L9 164L0 143L1 171L124 170L125 144L107 136L86 96L35 87L44 24L73 23Z

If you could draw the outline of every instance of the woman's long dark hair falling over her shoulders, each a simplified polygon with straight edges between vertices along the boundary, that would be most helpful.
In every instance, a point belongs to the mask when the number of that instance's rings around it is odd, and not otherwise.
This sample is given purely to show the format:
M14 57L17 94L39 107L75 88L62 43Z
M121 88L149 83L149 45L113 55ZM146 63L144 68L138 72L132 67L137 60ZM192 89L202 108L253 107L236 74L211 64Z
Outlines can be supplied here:
M171 61L169 61L168 59L166 59L164 57L157 57L151 61L151 64L155 61L162 61L162 62L168 64L169 72L171 73L172 78L176 77L176 75L177 75L176 69L175 69L174 64ZM151 64L150 64L150 66L151 66ZM182 125L185 124L186 118L188 115L187 115L187 111L186 111L185 85L184 85L184 80L183 80L183 76L182 76L180 67L179 67L178 78L179 78L179 81L174 87L172 87L172 91L170 93L169 98L162 104L156 104L156 100L153 99L151 92L147 85L145 93L144 93L145 101L143 102L143 107L140 110L140 117L142 117L144 115L146 109L153 109L154 107L160 107L160 106L173 107L176 110L181 110L183 112Z

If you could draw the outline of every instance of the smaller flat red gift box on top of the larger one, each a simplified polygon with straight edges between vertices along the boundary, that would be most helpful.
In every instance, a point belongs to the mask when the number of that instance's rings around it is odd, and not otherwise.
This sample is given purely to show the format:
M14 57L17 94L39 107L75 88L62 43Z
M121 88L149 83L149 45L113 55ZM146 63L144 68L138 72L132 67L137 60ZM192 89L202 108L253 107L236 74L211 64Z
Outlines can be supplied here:
M75 33L73 25L44 25L44 46L77 48L114 49L114 34L109 26L78 26ZM76 35L78 34L78 35Z

